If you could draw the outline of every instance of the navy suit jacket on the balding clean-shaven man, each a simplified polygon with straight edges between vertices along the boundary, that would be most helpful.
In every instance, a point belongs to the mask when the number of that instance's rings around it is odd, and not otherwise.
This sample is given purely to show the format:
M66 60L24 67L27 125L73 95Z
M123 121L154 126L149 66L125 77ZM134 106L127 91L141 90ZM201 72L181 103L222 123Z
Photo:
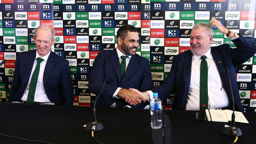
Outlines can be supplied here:
M28 85L35 55L36 50L18 54L9 102L21 101ZM43 84L50 102L56 105L73 104L74 95L69 62L52 51L45 65Z

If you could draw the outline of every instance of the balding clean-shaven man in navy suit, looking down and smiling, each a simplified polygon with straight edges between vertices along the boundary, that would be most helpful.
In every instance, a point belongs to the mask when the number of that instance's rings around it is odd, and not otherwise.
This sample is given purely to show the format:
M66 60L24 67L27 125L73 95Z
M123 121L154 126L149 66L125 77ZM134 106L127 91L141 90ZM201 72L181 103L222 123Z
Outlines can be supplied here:
M37 50L19 53L15 63L14 79L9 102L26 103L32 74L40 63L39 75L32 103L72 105L74 101L69 62L51 51L55 31L47 26L39 26L33 37Z

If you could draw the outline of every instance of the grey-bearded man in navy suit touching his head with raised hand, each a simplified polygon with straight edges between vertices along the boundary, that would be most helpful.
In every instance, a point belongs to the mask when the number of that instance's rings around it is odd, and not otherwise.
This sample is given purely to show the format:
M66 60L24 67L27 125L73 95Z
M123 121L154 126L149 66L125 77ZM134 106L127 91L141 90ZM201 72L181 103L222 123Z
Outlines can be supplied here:
M213 41L213 25L221 33L226 34L237 48L230 48L228 44L210 48ZM218 20L211 19L210 25L198 23L193 26L190 34L190 50L173 58L171 71L160 87L142 93L135 89L134 91L143 95L145 100L150 100L152 92L158 92L161 100L168 98L170 94L175 94L173 109L199 110L200 57L205 55L208 64L208 108L232 108L230 107L232 95L226 73L228 69L230 71L235 109L242 111L234 67L245 63L255 52L256 46L252 42L239 34L232 33ZM130 103L128 99L126 101Z

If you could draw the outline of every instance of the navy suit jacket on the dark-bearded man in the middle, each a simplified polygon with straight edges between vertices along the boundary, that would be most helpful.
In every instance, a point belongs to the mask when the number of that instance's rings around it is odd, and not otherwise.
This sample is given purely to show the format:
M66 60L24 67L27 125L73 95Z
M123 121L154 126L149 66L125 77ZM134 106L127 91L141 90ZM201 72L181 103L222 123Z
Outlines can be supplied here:
M128 105L122 98L113 98L113 94L118 87L135 88L140 91L150 90L152 88L151 69L148 59L132 55L126 72L121 80L121 68L117 50L100 52L95 61L89 76L89 90L98 95L106 79L106 85L101 96L98 98L97 106L109 107L114 101L117 107ZM144 108L148 102L133 108Z

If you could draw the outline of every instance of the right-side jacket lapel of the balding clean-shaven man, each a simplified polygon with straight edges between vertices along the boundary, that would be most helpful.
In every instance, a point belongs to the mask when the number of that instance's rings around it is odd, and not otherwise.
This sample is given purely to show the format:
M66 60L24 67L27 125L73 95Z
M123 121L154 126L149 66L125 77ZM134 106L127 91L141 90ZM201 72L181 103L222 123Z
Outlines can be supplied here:
M54 52L51 51L45 65L44 78L43 78L44 85L46 85L46 82L49 79L49 76L55 65L56 65L56 60L55 60Z

